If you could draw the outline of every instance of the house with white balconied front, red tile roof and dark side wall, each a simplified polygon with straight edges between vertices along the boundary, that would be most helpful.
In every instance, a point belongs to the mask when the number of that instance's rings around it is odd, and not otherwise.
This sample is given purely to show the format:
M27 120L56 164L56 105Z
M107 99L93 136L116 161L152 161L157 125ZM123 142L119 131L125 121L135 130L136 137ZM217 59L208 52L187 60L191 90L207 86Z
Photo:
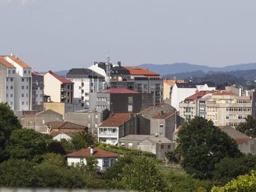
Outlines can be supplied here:
M132 114L110 114L98 128L98 141L117 145L119 138L130 134L135 134L135 121Z

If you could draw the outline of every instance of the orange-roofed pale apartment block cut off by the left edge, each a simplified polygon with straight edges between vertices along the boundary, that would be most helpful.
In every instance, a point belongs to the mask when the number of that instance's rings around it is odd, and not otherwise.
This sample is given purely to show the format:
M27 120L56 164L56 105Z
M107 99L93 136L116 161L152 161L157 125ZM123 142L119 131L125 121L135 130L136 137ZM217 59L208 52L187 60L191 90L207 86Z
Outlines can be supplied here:
M14 79L16 68L0 56L0 102L14 109Z

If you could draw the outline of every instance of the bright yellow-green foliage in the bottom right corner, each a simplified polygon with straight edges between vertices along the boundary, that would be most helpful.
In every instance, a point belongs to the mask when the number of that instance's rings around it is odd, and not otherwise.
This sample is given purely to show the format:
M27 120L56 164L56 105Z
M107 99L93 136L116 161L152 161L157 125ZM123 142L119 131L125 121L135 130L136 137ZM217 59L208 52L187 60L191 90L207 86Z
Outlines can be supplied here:
M250 192L256 189L256 171L253 170L249 175L241 175L236 180L232 180L223 187L214 186L211 192Z

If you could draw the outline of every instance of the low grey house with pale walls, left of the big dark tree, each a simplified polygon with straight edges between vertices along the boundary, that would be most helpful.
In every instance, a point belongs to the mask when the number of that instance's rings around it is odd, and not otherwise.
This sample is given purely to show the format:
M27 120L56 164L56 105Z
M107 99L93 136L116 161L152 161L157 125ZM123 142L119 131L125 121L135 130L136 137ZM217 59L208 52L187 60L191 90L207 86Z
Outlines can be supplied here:
M139 149L156 154L157 159L164 159L166 152L174 151L175 144L168 138L148 137L139 143Z

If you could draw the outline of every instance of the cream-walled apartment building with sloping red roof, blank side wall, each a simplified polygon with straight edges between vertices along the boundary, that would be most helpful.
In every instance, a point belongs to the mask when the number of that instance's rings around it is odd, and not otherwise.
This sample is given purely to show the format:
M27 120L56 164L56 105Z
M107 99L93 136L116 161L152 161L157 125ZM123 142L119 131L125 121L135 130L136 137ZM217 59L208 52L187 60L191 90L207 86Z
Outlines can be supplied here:
M73 103L74 83L49 70L44 75L44 93L53 102Z

